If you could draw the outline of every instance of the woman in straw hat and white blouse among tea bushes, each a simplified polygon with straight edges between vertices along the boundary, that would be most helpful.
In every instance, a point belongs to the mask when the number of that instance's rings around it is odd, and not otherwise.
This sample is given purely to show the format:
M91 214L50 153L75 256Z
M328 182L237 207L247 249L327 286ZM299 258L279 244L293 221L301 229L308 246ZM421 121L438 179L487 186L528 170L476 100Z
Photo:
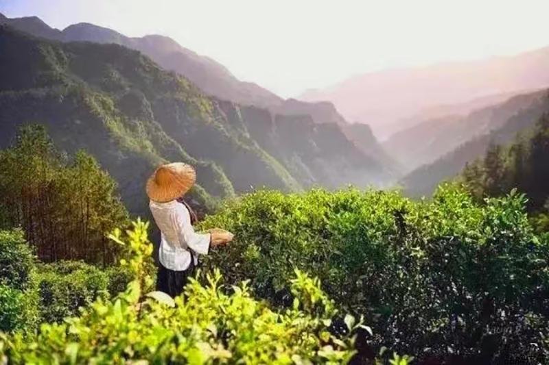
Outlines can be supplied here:
M222 229L206 234L194 231L191 217L196 216L181 201L195 181L194 168L181 162L157 168L147 181L149 207L161 231L156 290L171 297L183 292L187 278L198 264L198 253L207 255L211 246L233 239L233 234Z

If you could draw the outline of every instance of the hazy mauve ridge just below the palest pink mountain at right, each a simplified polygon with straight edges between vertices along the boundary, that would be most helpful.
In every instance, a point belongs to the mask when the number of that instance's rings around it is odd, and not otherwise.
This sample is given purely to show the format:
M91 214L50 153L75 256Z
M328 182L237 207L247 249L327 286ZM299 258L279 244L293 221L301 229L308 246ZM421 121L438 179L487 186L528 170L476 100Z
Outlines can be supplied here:
M541 92L511 97L496 105L474 110L465 116L433 118L393 134L383 143L386 151L410 172L430 164L477 136L501 127L511 116L530 107Z

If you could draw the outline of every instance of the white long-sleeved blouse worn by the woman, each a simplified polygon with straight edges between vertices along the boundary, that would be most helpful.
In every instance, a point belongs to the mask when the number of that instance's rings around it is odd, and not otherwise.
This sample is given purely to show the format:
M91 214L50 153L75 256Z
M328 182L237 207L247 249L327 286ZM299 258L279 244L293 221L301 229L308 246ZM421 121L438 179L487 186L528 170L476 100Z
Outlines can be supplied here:
M194 264L198 264L197 253L207 255L211 235L194 231L191 214L185 205L176 200L167 203L150 201L149 207L161 231L159 260L165 268L187 270L191 260L194 259Z

